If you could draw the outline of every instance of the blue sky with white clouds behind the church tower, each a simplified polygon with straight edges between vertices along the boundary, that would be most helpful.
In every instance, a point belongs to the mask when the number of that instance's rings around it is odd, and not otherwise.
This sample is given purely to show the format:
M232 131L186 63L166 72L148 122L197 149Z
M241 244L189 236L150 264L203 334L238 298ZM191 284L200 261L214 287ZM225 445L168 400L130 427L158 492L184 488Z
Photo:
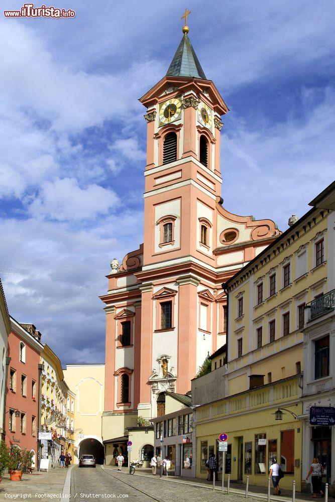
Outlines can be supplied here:
M335 9L332 0L52 5L75 18L0 13L0 277L11 315L35 324L63 364L101 363L109 263L143 242L138 98L165 75L183 11L230 108L224 206L285 230L334 179Z

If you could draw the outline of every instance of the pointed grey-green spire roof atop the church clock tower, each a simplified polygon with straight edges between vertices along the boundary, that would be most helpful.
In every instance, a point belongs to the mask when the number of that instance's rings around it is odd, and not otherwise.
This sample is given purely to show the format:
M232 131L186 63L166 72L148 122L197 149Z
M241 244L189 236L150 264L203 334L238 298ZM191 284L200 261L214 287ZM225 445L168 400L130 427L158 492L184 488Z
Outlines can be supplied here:
M207 80L187 33L184 33L166 75L168 77L195 77Z

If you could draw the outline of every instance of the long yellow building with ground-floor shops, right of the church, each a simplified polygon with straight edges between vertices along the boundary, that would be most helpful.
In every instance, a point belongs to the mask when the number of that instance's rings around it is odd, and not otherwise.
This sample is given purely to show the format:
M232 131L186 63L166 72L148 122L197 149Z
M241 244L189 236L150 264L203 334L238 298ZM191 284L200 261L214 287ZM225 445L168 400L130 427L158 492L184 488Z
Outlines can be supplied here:
M291 226L223 285L226 350L213 354L211 373L192 381L192 401L200 405L197 476L207 475L211 453L221 464L218 436L226 432L225 472L232 480L246 482L249 475L251 484L266 486L274 457L285 473L281 486L291 488L294 479L301 489L308 472L302 465L304 311L328 291L331 217L331 211L313 206L299 220L290 218Z

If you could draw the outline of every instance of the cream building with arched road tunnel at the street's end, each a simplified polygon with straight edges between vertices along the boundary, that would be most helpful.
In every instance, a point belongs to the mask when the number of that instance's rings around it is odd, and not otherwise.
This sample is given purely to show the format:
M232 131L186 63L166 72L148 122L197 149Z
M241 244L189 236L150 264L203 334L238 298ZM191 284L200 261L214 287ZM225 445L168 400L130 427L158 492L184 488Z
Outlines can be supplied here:
M104 406L104 364L67 364L66 383L75 395L72 405L68 395L69 425L74 421L72 458L78 463L82 454L92 454L98 463L104 461L101 437L101 415Z

